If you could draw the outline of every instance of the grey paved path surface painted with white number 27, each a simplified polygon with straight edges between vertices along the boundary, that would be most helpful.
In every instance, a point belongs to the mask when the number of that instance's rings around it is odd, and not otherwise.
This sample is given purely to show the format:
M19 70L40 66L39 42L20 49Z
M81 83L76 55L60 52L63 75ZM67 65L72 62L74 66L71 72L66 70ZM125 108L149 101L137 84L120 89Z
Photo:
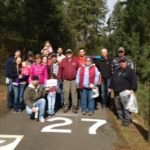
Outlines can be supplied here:
M122 144L106 110L100 108L92 117L59 110L43 124L25 112L0 117L0 150L115 150Z

